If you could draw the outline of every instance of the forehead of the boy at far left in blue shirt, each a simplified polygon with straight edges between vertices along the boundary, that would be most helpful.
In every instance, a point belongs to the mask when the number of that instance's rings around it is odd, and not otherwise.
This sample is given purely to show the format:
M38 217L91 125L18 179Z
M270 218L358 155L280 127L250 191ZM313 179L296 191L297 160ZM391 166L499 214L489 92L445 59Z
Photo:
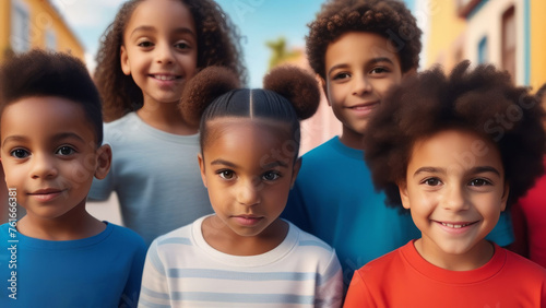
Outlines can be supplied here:
M32 96L5 106L0 116L0 134L45 135L76 132L90 141L95 130L81 104L57 96Z

